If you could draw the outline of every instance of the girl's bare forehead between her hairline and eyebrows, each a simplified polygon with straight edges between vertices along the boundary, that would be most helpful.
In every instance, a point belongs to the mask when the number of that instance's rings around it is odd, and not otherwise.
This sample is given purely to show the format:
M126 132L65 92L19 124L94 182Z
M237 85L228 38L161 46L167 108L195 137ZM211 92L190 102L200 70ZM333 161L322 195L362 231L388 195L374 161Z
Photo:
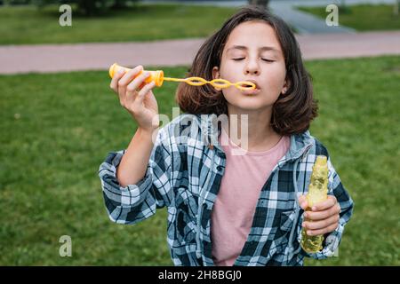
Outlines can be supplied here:
M243 45L249 49L272 46L281 51L275 29L261 20L247 21L234 28L225 43L224 52L235 45Z

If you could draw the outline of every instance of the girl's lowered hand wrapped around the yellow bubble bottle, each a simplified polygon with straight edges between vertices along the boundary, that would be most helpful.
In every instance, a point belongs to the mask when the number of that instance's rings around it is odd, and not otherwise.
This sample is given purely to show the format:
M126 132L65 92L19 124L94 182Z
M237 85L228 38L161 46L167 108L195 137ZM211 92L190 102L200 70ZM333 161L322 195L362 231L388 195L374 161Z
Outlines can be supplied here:
M310 236L316 236L326 233L331 233L339 226L340 205L333 195L328 195L326 201L316 203L311 211L306 211L308 201L306 195L301 195L299 198L301 209L305 210L303 228L307 230ZM306 221L306 219L311 220Z

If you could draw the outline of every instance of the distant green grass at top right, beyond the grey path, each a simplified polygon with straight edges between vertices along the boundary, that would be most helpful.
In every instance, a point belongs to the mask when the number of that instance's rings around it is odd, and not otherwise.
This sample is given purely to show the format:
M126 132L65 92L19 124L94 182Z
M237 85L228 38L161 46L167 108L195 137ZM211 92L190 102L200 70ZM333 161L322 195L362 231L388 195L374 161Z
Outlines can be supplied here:
M325 19L329 12L326 7L297 7ZM400 29L400 15L395 16L393 5L359 4L339 7L339 25L355 28L358 31Z

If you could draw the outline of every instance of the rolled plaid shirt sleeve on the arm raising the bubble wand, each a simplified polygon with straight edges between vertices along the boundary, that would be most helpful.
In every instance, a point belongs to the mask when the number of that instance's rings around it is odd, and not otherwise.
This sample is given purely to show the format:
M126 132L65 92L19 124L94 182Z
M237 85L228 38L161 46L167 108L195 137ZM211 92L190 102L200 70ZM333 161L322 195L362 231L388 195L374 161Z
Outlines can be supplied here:
M158 130L145 176L135 185L121 186L116 170L125 150L111 152L100 164L99 177L109 218L135 224L169 206L172 201L172 152L165 128Z

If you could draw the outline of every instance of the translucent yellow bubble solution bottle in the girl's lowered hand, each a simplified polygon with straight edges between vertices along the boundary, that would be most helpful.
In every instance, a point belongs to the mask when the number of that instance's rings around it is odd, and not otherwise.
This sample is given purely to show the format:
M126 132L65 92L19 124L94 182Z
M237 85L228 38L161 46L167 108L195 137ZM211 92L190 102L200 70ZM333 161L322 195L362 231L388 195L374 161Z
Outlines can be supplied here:
M325 201L328 198L328 163L324 155L316 156L316 162L311 174L311 182L308 186L306 195L308 208L311 208L318 202ZM311 222L306 219L306 221ZM316 253L323 248L324 235L309 236L303 228L301 231L301 248L308 253Z

